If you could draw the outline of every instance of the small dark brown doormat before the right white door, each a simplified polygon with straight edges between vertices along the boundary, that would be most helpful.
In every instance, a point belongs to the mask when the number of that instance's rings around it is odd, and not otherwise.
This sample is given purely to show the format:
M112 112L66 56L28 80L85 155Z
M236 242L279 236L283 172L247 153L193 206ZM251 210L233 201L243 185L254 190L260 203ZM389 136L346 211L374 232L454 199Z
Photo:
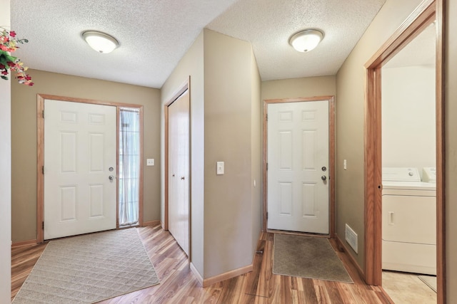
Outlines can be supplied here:
M274 235L273 273L353 283L326 238Z

